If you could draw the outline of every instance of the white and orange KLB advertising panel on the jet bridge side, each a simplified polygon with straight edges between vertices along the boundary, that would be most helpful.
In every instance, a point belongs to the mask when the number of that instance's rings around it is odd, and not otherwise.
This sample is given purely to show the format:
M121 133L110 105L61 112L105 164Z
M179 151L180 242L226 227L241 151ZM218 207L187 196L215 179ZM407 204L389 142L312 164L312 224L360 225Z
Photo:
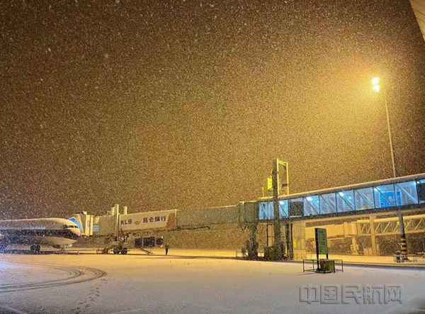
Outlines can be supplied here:
M120 230L124 232L162 228L176 228L176 210L120 215Z

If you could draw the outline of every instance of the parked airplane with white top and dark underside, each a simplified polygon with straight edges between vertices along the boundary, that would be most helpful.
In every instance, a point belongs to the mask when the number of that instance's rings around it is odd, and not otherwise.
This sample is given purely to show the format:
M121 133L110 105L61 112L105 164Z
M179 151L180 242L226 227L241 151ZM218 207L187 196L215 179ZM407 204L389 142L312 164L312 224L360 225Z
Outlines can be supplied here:
M40 245L51 245L64 253L80 235L76 223L62 218L0 220L0 252L17 244L30 245L33 253L40 253Z

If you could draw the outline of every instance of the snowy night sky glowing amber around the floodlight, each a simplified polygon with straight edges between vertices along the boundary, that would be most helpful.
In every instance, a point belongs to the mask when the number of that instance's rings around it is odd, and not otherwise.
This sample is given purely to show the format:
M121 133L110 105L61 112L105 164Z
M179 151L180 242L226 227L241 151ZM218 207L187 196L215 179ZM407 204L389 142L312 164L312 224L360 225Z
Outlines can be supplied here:
M409 1L0 1L0 219L233 205L425 172Z

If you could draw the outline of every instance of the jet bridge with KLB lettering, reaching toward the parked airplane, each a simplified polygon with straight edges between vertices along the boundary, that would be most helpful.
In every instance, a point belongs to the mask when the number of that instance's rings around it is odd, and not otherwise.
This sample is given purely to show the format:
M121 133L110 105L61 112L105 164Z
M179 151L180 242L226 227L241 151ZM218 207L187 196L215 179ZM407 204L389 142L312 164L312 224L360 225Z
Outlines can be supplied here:
M104 250L124 247L128 237L135 237L138 243L152 232L179 230L210 230L214 225L240 225L239 230L248 230L254 241L257 225L258 205L254 202L241 202L234 206L214 208L191 208L183 210L149 211L128 213L128 208L116 204L106 215L90 216L86 212L74 215L70 220L77 220L84 235L104 238ZM89 223L87 223L89 221ZM143 243L143 241L142 241ZM98 245L100 245L98 243ZM114 250L115 252L115 250ZM120 251L122 252L122 251ZM125 254L125 253L124 253Z

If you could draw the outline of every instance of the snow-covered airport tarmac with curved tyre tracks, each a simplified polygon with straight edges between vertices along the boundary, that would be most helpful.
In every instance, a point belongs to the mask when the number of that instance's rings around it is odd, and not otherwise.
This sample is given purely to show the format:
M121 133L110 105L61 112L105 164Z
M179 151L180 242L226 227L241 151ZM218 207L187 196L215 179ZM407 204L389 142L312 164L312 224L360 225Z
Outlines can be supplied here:
M0 279L0 313L425 313L421 269L344 267L324 275L284 262L0 254ZM308 304L300 302L307 284L402 284L404 302Z

